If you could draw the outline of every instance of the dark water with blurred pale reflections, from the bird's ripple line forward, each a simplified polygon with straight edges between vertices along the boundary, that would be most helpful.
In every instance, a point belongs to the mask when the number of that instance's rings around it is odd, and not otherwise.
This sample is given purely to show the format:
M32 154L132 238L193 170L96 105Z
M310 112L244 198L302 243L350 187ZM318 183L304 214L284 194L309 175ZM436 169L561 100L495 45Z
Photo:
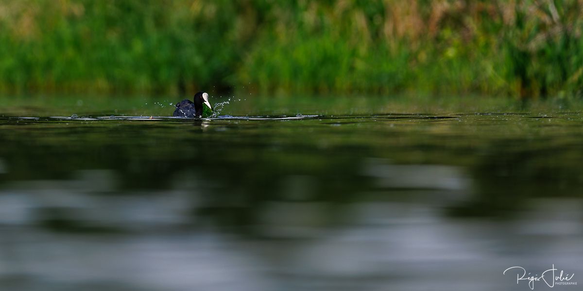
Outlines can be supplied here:
M528 290L504 269L552 264L577 281L582 125L580 113L2 118L0 286Z

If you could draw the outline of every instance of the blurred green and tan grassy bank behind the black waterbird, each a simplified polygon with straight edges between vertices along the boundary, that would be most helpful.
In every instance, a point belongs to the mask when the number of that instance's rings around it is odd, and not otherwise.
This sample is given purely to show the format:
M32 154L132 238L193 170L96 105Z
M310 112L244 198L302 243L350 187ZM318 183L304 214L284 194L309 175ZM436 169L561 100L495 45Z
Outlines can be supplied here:
M580 97L582 9L578 0L2 0L0 90Z

